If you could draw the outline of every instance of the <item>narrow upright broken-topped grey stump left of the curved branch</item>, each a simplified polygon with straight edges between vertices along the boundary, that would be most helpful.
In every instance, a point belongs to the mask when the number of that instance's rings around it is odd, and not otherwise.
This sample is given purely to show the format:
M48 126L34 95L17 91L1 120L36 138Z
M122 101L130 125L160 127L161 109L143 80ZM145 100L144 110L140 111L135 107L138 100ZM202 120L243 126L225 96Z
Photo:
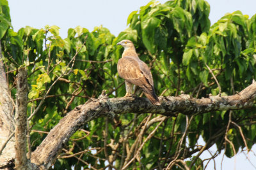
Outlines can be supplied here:
M28 81L27 71L24 68L19 69L16 97L15 167L16 169L29 169L26 157Z

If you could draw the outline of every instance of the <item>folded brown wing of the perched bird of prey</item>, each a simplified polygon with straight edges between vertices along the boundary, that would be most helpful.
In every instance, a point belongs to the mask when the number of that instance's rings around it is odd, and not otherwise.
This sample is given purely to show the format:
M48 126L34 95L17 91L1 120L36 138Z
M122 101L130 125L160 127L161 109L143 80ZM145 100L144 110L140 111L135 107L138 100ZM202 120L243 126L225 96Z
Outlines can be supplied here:
M140 62L139 59L136 59L134 57L122 57L118 60L117 63L117 71L120 77L124 78L126 81L129 81L130 83L134 85L138 85L141 87L144 85L145 87L152 88L151 80L148 80L148 71L150 73L150 70L147 66L147 64L144 62ZM147 68L145 68L147 66Z

